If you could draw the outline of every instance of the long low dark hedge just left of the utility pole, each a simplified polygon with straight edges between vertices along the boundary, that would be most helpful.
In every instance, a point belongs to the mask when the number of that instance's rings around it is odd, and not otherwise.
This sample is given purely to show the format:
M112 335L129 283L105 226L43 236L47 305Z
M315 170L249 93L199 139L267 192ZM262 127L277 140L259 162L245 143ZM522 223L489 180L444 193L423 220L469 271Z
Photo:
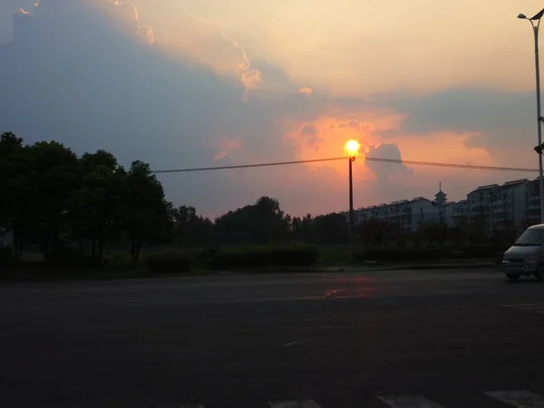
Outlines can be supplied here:
M220 248L209 259L214 268L306 267L317 262L319 252L308 245Z

